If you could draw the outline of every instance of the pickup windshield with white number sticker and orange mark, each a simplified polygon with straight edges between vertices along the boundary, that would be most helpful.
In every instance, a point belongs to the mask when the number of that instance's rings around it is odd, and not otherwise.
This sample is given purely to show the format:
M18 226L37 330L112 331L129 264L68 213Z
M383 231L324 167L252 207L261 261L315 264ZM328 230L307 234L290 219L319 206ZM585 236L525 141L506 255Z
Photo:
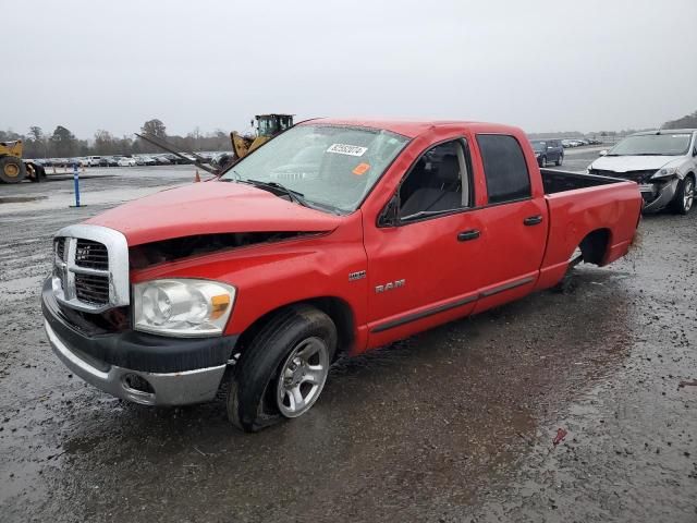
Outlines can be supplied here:
M227 171L222 181L277 183L310 206L354 211L408 138L345 125L298 125Z

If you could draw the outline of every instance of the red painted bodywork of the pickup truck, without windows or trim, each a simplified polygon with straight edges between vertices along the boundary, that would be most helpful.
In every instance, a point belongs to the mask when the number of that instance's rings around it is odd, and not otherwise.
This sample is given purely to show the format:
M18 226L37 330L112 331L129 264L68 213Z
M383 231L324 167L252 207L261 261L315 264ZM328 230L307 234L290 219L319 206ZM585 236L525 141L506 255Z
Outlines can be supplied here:
M317 123L317 120L311 123ZM481 312L557 283L580 240L598 229L610 231L603 264L626 253L635 233L641 197L623 182L546 196L537 161L523 131L467 122L338 121L390 130L413 139L387 170L362 207L333 216L301 207L248 185L209 182L163 191L109 210L90 223L122 231L130 245L213 232L314 231L289 240L220 252L132 272L132 280L162 277L209 278L237 288L229 333L247 329L265 314L314 297L332 296L352 311L353 352L404 338L444 321ZM486 206L487 187L475 135L513 135L523 145L533 195L524 202ZM394 228L378 228L378 215L412 163L433 144L464 137L469 144L475 208ZM542 223L523 219L541 215ZM477 229L476 241L457 233ZM367 278L348 281L348 273ZM404 287L376 293L375 287L404 279ZM481 293L509 282L529 280L488 297ZM414 316L453 300L467 301L414 320ZM411 319L387 330L386 324Z

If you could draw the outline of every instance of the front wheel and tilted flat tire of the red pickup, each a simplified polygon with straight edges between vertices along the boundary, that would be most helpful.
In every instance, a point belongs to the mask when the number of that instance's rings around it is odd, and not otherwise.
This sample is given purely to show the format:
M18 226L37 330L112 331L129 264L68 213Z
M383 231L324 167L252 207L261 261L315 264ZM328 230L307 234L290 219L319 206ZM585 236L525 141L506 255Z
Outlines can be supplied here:
M255 433L305 414L325 387L337 338L331 318L308 305L271 317L243 351L230 377L230 422ZM302 401L296 402L297 398Z

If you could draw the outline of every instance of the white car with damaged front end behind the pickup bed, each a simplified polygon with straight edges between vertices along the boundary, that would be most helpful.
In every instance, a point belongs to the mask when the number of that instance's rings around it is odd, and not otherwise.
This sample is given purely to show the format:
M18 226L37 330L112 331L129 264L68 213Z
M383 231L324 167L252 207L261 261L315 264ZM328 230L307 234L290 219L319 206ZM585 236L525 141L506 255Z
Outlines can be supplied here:
M627 136L588 166L589 174L624 178L639 184L644 210L670 207L686 215L695 200L697 130L663 129Z

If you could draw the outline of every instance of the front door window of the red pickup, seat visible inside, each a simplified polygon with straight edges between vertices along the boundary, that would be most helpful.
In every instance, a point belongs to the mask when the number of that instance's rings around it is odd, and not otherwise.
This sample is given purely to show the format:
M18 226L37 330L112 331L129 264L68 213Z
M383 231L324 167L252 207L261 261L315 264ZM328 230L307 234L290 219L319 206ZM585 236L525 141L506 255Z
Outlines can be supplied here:
M460 139L428 149L400 186L400 219L468 207L472 194L466 155Z

